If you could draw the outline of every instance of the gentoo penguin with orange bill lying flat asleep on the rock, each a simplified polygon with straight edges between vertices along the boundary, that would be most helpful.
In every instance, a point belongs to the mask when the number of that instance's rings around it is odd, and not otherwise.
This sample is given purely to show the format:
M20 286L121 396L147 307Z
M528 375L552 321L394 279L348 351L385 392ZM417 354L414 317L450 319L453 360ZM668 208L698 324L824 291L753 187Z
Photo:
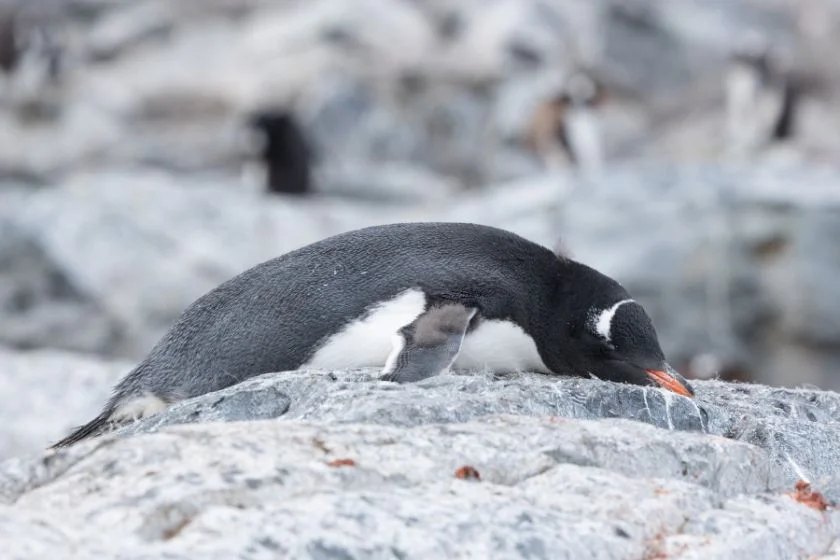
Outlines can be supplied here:
M202 296L102 413L53 447L262 373L383 367L405 382L450 364L693 395L615 280L505 230L400 223L323 239Z

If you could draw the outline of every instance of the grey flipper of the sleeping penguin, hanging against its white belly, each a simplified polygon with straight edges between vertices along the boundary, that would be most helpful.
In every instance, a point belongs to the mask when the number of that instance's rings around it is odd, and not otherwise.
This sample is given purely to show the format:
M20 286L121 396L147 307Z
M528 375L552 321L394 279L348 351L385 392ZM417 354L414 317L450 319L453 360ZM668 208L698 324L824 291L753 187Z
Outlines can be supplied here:
M380 380L412 383L447 370L458 357L476 312L454 303L426 310L395 335L394 350Z

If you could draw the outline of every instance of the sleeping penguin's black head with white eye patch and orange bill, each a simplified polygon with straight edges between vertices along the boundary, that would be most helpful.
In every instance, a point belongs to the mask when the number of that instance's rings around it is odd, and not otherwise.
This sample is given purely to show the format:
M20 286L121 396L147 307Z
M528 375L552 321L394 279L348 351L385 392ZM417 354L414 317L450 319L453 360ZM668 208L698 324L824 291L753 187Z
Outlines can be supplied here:
M572 323L572 367L607 381L660 385L692 397L694 389L665 360L656 330L632 299L590 307Z

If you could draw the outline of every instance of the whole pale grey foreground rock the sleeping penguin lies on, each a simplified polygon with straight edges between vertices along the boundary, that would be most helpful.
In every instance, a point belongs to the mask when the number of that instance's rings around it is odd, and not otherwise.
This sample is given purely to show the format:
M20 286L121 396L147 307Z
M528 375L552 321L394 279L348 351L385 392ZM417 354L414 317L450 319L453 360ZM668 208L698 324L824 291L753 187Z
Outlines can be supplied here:
M0 537L14 560L819 558L840 517L791 494L807 471L840 496L838 426L821 391L268 374L6 461Z

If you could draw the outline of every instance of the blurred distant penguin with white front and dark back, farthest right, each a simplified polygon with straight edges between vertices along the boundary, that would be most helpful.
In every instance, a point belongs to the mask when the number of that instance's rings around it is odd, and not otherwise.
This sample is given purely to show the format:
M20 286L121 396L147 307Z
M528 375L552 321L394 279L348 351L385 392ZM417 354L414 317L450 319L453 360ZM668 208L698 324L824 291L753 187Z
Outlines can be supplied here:
M734 50L725 89L731 153L749 154L793 136L799 88L777 68L763 40L749 37Z

